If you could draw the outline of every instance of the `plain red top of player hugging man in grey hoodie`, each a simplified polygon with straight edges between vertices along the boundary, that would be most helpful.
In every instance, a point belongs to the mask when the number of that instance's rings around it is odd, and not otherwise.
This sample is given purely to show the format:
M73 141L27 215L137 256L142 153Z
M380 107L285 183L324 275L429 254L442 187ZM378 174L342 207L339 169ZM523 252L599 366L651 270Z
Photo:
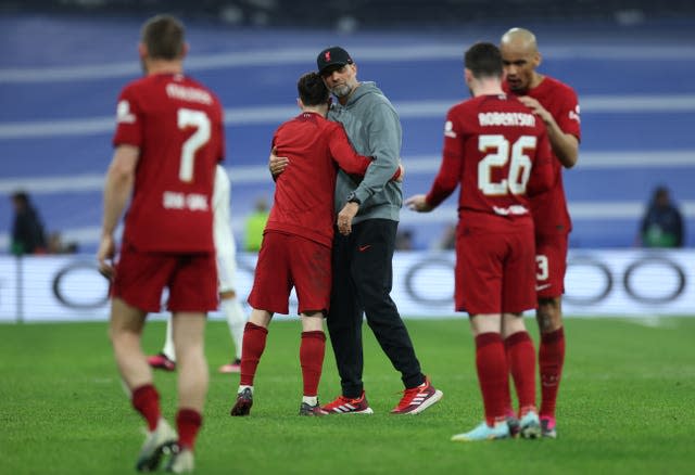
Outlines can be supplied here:
M315 113L302 113L282 124L273 146L278 156L290 159L290 166L277 178L265 230L331 246L337 165L364 176L371 159L354 151L342 125Z

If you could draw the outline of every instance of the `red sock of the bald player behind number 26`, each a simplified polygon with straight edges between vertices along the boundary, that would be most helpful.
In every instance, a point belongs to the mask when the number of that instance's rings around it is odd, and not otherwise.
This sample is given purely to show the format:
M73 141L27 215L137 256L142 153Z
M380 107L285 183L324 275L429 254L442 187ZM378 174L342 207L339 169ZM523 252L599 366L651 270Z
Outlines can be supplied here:
M565 332L563 328L541 334L539 367L541 371L541 415L555 418L555 402L565 363Z

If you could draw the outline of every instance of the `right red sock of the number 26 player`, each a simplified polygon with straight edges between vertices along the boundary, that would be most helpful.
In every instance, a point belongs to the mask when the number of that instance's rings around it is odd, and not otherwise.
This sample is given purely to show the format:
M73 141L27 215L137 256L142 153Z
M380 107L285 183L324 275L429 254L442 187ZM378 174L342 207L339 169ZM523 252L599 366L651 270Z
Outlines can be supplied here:
M535 348L529 333L517 332L505 339L507 362L519 398L519 415L535 411Z

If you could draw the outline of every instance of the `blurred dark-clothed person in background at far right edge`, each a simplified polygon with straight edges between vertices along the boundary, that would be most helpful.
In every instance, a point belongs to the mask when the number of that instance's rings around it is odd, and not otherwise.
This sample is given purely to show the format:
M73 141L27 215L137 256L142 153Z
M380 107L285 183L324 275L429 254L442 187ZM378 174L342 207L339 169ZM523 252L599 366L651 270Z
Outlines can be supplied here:
M640 238L644 247L683 247L683 216L671 202L669 190L658 187L642 218Z

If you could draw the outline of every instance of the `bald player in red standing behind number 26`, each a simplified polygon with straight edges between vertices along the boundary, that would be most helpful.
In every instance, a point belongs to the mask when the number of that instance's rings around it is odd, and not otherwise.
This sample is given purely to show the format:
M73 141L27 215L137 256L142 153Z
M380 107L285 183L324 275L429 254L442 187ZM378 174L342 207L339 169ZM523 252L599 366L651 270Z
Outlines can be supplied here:
M541 332L541 426L543 436L555 438L555 406L565 363L563 294L568 238L572 227L563 185L563 167L573 167L579 157L579 101L571 87L536 70L542 56L535 36L528 29L509 29L502 37L500 49L506 73L504 90L518 95L543 120L554 156L555 184L533 197L531 211L536 247L535 316Z

